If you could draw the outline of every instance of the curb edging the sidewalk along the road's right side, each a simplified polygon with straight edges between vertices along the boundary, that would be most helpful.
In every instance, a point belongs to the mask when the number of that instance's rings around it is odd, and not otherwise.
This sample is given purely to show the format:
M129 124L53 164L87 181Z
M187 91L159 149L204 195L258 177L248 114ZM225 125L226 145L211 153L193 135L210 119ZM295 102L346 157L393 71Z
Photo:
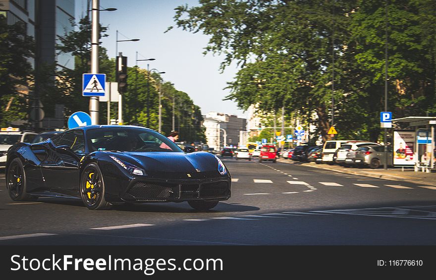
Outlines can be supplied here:
M291 162L284 162L284 161L280 161L280 163L292 164ZM416 178L401 177L398 175L377 174L377 173L368 172L368 171L349 170L349 169L336 169L336 168L331 168L331 166L325 167L325 166L323 166L324 164L303 163L302 165L310 166L310 167L314 167L314 168L326 169L326 170L340 172L340 173L361 175L361 176L380 178L380 179L392 180L392 181L406 181L406 182L410 182L410 183L423 184L423 185L428 185L428 186L436 186L436 182L430 182L431 179L417 180Z

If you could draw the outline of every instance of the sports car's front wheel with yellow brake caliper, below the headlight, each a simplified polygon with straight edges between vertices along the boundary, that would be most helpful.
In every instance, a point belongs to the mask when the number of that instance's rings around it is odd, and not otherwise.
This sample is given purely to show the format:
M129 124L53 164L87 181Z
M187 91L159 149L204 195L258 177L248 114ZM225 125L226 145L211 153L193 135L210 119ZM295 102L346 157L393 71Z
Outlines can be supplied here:
M97 163L90 163L83 168L80 177L80 196L85 206L90 210L110 208L110 204L105 199L103 174Z

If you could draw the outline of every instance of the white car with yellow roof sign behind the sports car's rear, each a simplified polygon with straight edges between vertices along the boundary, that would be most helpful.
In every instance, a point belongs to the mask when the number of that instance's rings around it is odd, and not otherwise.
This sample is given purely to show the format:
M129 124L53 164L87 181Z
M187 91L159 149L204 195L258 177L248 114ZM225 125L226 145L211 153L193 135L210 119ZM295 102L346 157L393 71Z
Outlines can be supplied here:
M20 131L15 127L2 127L0 130L0 167L6 166L7 150L17 142L31 143L37 133Z

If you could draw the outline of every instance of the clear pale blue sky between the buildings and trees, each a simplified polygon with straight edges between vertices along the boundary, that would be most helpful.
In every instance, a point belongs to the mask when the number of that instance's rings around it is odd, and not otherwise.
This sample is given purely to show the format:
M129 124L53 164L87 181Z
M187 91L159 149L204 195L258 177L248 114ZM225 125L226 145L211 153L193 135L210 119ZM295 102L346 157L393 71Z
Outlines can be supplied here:
M101 8L118 9L100 12L100 23L109 27L109 37L102 39L102 47L108 49L109 57L115 56L116 30L118 40L138 38L138 42L118 42L118 52L128 57L128 66L135 65L136 51L138 59L156 58L138 61L138 65L146 69L149 63L150 69L166 72L162 74L163 79L174 83L177 90L186 92L203 114L218 111L246 117L235 102L222 101L229 93L224 90L226 82L233 79L237 69L228 67L220 73L222 57L202 54L208 36L176 27L164 33L168 26L174 25L174 8L185 3L198 5L197 0L100 0ZM84 12L86 0L76 0L76 20Z

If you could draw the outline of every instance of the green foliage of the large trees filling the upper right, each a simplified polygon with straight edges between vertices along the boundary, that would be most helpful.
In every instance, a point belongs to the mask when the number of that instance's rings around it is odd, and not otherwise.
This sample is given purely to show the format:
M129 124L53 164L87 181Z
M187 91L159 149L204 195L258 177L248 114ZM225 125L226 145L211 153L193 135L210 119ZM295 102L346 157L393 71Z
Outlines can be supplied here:
M315 123L325 140L334 116L339 138L375 141L384 111L386 22L388 110L394 117L436 113L435 2L385 3L200 0L178 6L174 19L184 30L211 36L205 53L224 54L222 69L240 65L226 97L239 108L285 106L286 114Z

